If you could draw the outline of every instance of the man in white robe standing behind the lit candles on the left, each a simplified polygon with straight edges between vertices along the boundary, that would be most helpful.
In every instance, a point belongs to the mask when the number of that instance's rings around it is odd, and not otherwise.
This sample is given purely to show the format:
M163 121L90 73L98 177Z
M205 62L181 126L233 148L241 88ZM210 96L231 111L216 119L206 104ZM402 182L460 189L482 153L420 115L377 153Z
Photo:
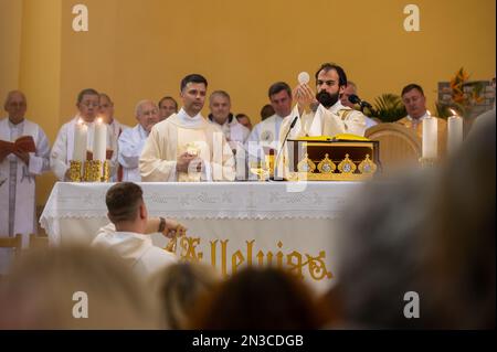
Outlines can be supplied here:
M81 122L87 126L87 151L93 152L93 139L95 135L96 118L99 110L99 95L94 89L84 89L77 96L77 114L64 124L59 130L55 143L50 154L50 168L60 181L68 181L70 161L74 157L74 134L76 124ZM110 129L107 128L106 146L107 160L110 161L110 178L117 171L117 151L113 148L113 137Z

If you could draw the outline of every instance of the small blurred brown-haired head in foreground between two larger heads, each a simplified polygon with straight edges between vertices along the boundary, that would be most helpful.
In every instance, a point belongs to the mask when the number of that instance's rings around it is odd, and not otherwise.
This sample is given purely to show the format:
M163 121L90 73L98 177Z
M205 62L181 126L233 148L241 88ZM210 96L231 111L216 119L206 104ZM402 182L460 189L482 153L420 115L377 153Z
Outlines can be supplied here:
M161 303L165 326L187 329L199 302L219 284L218 273L200 263L179 263L150 278L152 291Z

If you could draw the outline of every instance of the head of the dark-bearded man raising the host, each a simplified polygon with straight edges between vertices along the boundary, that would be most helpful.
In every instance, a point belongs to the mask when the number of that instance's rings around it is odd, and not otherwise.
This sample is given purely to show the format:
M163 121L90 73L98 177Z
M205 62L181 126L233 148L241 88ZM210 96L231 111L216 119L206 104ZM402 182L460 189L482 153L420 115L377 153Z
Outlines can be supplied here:
M347 87L347 75L339 65L322 64L315 74L316 99L326 108L334 106Z

